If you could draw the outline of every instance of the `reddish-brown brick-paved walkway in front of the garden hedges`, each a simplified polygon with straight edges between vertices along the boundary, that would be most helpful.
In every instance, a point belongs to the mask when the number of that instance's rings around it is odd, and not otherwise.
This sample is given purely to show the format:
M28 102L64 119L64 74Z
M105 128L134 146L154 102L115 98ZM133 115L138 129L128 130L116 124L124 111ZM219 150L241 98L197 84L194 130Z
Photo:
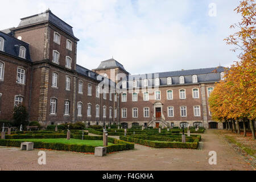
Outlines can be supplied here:
M135 150L115 152L104 158L79 152L46 151L46 165L38 164L38 152L0 146L2 170L254 170L224 139L212 130L202 134L202 150L151 148L135 144ZM208 163L209 151L217 152L217 164Z

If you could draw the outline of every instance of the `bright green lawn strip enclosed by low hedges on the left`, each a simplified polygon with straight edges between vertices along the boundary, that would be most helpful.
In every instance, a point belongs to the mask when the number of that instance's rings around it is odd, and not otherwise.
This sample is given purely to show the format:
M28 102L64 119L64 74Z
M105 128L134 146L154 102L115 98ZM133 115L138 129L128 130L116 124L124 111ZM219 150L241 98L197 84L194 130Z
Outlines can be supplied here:
M12 139L18 141L25 141L25 142L47 142L47 143L64 143L64 144L87 144L90 146L103 146L102 140L80 140L80 139L73 139L67 140L65 138L42 138L42 139ZM108 143L108 146L112 145L113 143Z

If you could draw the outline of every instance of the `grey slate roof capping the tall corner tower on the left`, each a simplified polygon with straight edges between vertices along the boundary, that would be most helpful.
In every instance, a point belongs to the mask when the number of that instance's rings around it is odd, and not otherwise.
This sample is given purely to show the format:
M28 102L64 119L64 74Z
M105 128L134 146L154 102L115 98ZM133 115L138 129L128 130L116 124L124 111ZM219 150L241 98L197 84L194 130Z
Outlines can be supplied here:
M50 22L56 27L60 28L62 31L66 32L68 35L72 36L76 40L79 40L73 34L73 27L70 26L68 23L65 23L63 20L58 18L54 15L51 10L47 10L44 13L27 16L25 18L20 19L19 26L16 28L12 28L11 30L16 30L19 28L31 26L33 24L43 23L43 22Z

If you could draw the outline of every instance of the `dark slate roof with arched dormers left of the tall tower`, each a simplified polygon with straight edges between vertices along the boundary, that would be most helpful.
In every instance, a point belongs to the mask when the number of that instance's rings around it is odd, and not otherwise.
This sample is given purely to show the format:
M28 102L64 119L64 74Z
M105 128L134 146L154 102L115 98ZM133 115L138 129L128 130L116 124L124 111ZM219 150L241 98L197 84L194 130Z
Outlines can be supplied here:
M18 57L18 59L22 59L19 57L19 48L20 46L24 46L26 48L26 60L31 61L28 43L16 39L13 36L10 36L9 34L5 34L2 31L0 31L0 37L2 37L5 40L3 52L0 51L0 53L6 53L7 55L15 56Z

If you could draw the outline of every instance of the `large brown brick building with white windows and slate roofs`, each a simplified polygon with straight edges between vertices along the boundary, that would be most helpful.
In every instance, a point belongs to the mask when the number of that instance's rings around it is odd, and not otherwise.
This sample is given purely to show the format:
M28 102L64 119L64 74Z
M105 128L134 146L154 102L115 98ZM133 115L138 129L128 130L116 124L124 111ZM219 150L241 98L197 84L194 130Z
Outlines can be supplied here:
M51 13L20 19L0 31L0 120L23 103L43 126L87 125L222 128L212 121L208 97L223 67L130 75L114 59L90 71L76 64L79 39Z

